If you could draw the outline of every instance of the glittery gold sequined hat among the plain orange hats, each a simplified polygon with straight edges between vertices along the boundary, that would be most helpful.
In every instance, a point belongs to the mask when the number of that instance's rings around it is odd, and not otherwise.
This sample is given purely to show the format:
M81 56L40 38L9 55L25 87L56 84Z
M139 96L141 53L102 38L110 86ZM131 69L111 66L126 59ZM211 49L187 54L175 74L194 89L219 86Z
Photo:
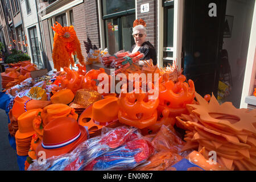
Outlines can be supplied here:
M94 90L80 89L77 90L75 100L69 104L69 107L74 108L76 113L80 115L82 111L101 98L101 94Z

